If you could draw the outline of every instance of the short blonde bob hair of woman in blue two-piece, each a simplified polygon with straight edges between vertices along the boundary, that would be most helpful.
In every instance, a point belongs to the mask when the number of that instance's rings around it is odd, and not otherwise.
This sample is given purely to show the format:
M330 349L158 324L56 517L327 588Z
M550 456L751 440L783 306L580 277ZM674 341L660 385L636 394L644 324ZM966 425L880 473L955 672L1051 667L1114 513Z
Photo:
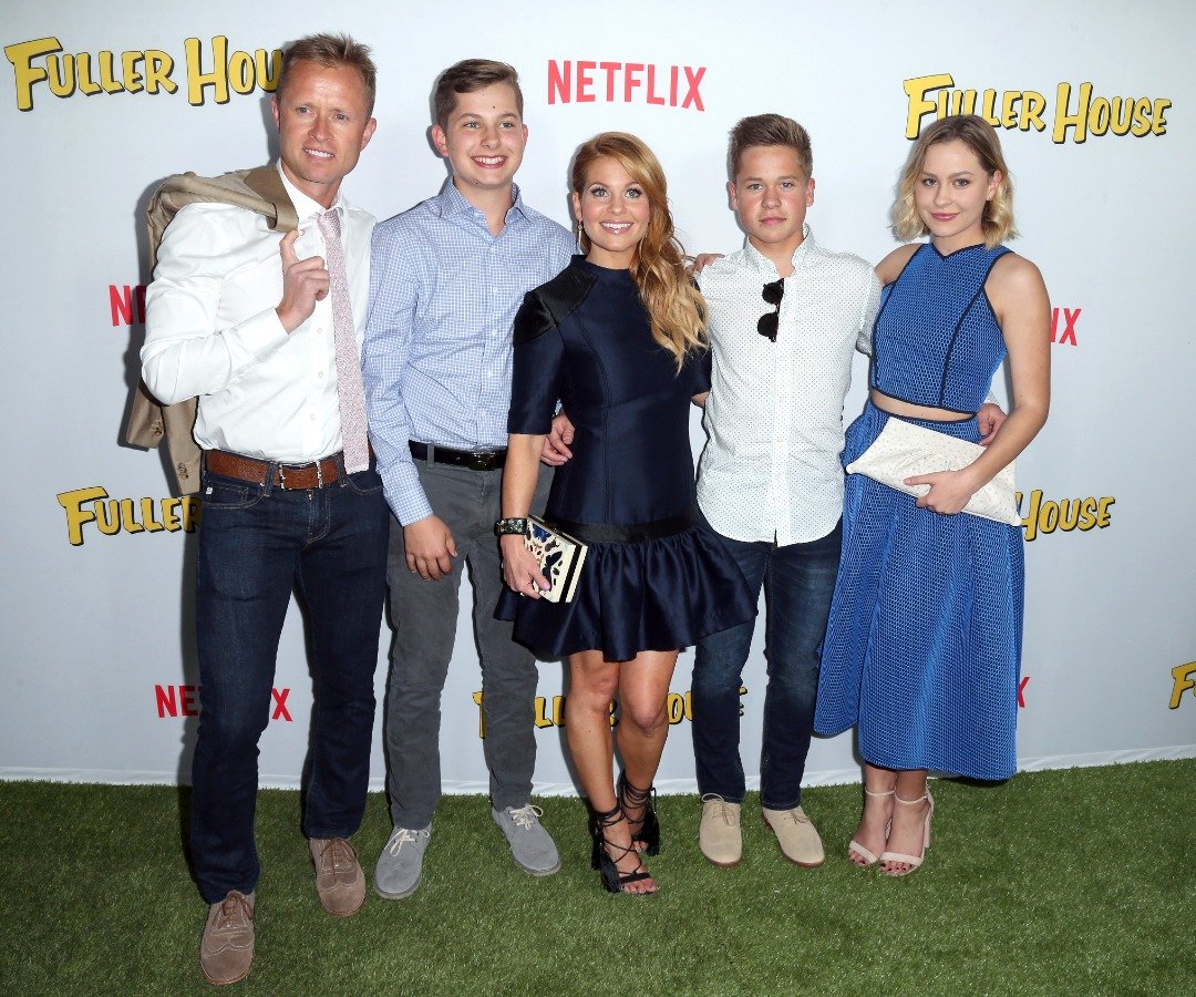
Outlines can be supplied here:
M1009 176L1009 168L1001 152L1001 141L993 126L975 114L940 118L925 128L922 134L917 136L897 184L897 201L892 209L893 235L902 242L909 242L929 233L926 224L919 217L917 205L914 202L914 188L922 176L926 153L930 146L956 140L962 141L976 153L981 168L988 176L993 176L995 172L1001 174L996 193L993 195L993 200L984 205L984 214L981 219L981 224L984 226L984 244L991 249L999 243L1017 238L1018 230L1013 224L1013 178Z

